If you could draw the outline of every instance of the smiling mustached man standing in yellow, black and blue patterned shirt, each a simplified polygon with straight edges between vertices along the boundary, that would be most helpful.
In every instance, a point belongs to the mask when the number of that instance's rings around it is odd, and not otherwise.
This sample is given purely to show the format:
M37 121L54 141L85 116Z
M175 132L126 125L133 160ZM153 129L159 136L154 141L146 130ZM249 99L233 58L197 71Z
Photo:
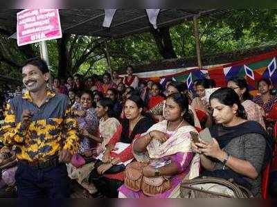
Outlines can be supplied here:
M49 71L43 60L28 60L22 77L27 91L10 100L1 128L3 143L15 147L19 160L19 198L69 197L65 163L78 149L69 99L48 91Z

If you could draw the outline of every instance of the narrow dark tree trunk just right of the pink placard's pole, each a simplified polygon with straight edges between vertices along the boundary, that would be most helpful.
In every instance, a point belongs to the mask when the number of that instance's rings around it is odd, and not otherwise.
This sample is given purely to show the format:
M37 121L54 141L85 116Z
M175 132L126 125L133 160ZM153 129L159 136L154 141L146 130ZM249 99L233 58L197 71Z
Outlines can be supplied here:
M59 67L57 69L57 76L59 78L66 78L66 75L69 73L68 69L68 51L66 48L69 35L64 34L61 39L57 39L57 47L59 51Z

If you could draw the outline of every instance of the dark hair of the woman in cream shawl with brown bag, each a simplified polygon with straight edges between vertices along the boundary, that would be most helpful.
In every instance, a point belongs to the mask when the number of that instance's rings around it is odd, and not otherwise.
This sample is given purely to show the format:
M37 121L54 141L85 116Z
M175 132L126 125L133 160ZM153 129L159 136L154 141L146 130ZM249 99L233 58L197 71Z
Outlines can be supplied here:
M194 126L195 121L193 118L193 114L191 114L188 110L188 98L186 98L186 96L181 93L173 93L168 96L168 98L171 98L174 102L177 103L177 105L179 105L181 110L184 112L183 119L186 120L190 125Z

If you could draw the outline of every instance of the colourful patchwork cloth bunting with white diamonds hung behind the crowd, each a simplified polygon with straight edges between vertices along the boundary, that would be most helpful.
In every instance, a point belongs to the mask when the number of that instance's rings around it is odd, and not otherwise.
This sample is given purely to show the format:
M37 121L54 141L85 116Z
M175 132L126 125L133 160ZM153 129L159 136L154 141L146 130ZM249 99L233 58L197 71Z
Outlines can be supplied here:
M261 55L249 57L242 61L233 62L224 66L209 67L209 69L199 70L184 69L179 73L166 75L160 78L164 82L164 78L172 78L175 81L185 81L188 89L193 87L193 81L204 79L206 75L215 80L217 87L226 86L226 82L233 77L246 78L249 89L256 89L256 82L260 78L270 78L275 87L277 87L277 64L276 64L277 50ZM139 74L138 74L139 75Z

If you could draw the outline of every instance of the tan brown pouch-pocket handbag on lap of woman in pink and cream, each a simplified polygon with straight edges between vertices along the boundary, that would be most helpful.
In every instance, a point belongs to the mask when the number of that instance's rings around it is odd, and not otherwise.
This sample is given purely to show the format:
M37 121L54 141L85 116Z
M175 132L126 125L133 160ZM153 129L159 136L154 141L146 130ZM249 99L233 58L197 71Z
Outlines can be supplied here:
M148 163L134 162L127 165L125 186L135 192L142 190L145 195L155 196L170 189L170 179L166 177L145 177L143 176L143 168Z

